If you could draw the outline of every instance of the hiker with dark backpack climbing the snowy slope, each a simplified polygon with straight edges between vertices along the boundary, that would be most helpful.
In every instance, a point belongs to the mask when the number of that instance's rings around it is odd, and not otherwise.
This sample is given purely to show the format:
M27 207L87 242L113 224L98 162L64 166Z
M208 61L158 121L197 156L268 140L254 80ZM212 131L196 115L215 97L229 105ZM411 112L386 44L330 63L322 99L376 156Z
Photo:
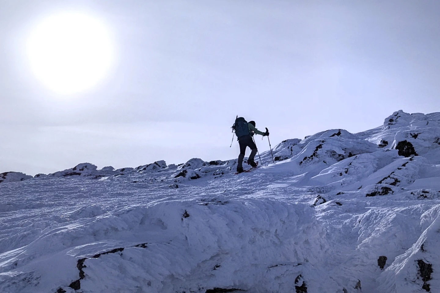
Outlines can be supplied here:
M257 154L257 146L253 142L253 134L268 136L269 130L266 128L266 132L262 132L255 128L255 121L249 121L248 123L243 117L238 117L237 119L235 119L235 123L232 128L235 130L235 135L237 136L238 144L240 145L240 155L238 155L237 172L242 173L244 172L243 159L245 157L246 147L249 147L251 150L247 163L253 168L257 166L254 161L255 155Z

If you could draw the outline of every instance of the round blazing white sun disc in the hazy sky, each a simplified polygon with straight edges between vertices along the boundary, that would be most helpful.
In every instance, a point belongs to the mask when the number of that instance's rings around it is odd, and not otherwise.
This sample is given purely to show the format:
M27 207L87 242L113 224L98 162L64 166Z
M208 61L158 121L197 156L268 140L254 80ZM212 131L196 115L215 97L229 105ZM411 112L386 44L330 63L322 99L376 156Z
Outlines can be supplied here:
M60 94L93 87L113 61L113 45L105 25L80 13L44 19L33 29L27 51L35 76Z

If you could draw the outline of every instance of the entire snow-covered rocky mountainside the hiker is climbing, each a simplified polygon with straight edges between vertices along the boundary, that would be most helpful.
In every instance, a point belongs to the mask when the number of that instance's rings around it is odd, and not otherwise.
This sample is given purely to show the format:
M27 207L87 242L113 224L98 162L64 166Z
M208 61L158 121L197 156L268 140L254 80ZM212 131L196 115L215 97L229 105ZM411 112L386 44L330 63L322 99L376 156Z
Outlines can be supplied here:
M260 155L1 173L0 292L440 292L440 113Z

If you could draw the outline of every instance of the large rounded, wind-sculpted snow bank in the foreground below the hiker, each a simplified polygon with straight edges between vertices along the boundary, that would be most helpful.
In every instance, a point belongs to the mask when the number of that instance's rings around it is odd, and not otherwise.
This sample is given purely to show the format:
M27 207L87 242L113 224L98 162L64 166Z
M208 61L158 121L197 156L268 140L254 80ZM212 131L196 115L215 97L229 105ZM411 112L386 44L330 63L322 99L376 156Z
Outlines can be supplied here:
M308 206L269 199L121 208L1 254L0 290L73 292L79 280L83 293L290 292L301 276L309 292L336 292L341 285L323 269L325 235Z

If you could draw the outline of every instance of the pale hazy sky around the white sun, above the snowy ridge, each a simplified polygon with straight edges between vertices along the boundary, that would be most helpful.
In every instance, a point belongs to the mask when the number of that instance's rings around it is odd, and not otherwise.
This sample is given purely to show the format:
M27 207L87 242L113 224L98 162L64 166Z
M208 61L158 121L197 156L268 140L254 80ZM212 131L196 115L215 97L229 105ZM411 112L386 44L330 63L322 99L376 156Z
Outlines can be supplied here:
M107 77L77 94L40 83L25 50L66 11L101 19L114 41ZM2 0L0 41L0 172L232 159L237 114L275 146L440 111L437 0Z

